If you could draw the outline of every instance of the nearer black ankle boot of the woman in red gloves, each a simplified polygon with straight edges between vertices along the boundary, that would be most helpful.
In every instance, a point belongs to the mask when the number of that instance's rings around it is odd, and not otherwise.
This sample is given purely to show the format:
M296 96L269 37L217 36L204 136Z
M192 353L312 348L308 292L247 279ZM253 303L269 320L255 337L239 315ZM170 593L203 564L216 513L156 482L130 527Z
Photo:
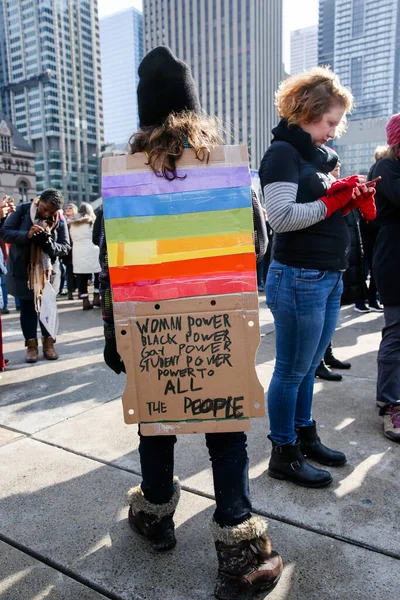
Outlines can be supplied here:
M268 436L271 440L271 438ZM268 475L275 479L287 479L296 485L321 488L332 483L329 471L310 465L300 451L300 443L277 446L272 442L272 454L268 465Z

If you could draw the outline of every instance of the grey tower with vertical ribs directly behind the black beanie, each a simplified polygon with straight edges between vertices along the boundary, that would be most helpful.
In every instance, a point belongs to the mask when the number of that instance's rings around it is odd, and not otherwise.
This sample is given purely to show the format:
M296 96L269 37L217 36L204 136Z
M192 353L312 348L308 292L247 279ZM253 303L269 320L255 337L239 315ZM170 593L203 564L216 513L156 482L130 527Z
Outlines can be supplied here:
M202 107L258 168L284 76L281 0L144 0L143 16L145 53L165 44L190 65Z

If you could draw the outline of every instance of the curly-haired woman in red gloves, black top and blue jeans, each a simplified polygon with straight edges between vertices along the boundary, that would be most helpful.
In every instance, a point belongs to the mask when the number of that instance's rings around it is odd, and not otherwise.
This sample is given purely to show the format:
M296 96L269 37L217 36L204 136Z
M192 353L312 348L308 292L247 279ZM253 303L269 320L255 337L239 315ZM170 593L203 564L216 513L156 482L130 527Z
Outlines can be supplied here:
M305 457L341 466L342 452L324 446L312 418L314 375L338 320L350 238L343 218L355 207L374 218L373 188L356 175L331 182L332 150L353 96L328 68L281 83L281 121L260 166L268 221L274 230L266 296L276 330L276 364L268 391L272 455L268 473L320 488L331 474Z

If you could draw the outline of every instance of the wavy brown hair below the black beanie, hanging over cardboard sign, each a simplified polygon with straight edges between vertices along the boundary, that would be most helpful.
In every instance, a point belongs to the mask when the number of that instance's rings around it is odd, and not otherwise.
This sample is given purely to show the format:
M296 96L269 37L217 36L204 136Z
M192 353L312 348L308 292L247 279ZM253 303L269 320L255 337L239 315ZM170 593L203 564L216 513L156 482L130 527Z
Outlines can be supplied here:
M217 119L191 111L171 113L162 125L143 127L129 140L131 154L144 152L154 173L170 181L179 179L176 163L185 148L208 163L211 148L221 143Z

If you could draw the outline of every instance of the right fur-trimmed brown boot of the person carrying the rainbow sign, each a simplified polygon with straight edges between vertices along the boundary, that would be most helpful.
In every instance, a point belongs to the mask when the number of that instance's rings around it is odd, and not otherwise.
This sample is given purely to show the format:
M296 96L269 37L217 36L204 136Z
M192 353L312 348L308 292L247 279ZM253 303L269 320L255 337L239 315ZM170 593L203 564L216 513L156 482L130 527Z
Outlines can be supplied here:
M213 521L211 527L218 556L218 600L247 600L278 583L282 557L272 550L263 519L251 517L234 527Z

